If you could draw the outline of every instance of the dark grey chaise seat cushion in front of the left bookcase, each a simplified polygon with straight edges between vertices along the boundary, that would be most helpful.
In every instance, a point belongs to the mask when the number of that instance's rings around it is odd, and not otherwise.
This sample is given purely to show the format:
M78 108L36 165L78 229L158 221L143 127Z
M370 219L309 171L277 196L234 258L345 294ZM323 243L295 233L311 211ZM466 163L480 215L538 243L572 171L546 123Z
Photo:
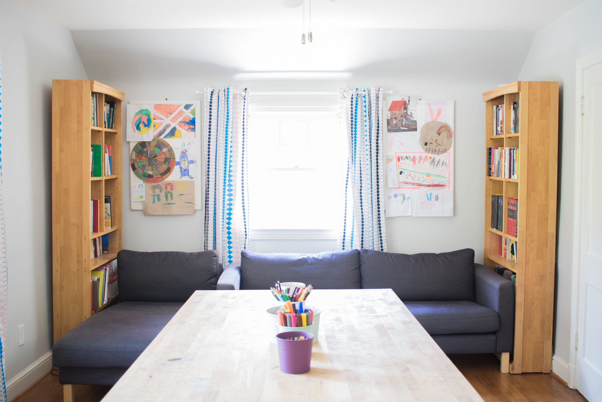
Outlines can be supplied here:
M57 367L129 367L184 303L126 301L73 328L52 347Z

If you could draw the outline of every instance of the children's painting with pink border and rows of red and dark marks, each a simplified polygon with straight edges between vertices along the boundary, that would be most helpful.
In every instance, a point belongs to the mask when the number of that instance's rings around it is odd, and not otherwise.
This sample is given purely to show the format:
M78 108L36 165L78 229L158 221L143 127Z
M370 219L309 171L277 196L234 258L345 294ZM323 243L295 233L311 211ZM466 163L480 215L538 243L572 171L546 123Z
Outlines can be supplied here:
M400 188L449 189L450 154L396 152L397 184Z

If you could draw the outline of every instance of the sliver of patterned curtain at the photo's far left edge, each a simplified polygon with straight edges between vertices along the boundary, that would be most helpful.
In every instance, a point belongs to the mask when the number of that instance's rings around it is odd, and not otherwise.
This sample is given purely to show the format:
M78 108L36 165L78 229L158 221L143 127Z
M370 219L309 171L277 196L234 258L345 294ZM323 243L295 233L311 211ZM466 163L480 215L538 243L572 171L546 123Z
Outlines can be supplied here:
M6 254L6 233L4 231L4 198L2 198L2 57L0 56L0 374L2 387L0 401L6 401L6 383L4 381L4 345L6 344L6 296L8 263Z

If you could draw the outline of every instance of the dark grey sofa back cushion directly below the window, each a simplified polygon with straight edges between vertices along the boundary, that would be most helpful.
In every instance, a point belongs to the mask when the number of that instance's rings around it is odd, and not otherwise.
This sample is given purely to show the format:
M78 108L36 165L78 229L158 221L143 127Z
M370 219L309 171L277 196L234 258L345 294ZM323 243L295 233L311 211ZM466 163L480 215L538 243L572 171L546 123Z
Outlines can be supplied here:
M243 250L240 289L270 289L274 283L303 282L315 289L359 289L359 250L317 254L260 254Z

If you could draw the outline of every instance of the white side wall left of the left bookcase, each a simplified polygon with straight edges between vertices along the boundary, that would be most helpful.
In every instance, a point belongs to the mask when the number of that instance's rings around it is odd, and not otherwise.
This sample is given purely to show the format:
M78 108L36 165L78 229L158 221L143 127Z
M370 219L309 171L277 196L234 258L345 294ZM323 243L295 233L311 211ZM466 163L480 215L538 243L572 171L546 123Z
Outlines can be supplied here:
M87 77L69 31L16 0L0 0L0 51L8 249L4 369L7 385L14 384L11 398L51 368L44 360L42 372L14 383L52 347L52 80ZM19 347L20 324L25 345Z

